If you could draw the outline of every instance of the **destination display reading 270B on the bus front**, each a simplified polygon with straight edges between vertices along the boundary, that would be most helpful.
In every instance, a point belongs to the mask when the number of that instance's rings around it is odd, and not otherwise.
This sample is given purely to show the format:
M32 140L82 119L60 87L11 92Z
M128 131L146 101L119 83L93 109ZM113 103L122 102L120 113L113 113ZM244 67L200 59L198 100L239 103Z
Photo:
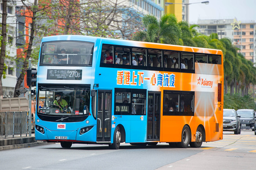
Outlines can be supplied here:
M47 79L48 80L81 80L82 70L48 69Z

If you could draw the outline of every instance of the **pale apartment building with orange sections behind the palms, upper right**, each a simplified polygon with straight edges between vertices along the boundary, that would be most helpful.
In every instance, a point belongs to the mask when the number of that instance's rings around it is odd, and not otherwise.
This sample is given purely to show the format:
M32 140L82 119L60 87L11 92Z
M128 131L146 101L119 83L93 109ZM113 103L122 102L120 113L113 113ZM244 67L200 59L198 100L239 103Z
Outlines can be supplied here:
M237 18L237 23L240 22ZM255 58L255 31L256 23L254 20L241 20L240 24L235 24L234 19L209 19L198 20L197 31L201 34L209 36L211 33L217 33L219 39L228 37L233 45L239 49L246 59L256 62ZM237 25L237 27L235 27ZM239 27L238 27L239 26Z

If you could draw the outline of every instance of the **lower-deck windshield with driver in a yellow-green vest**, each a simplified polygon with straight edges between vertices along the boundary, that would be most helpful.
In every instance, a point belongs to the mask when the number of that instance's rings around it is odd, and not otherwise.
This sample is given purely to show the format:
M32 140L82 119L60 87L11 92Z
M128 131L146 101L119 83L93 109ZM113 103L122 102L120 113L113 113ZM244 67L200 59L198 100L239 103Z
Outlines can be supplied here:
M57 116L89 114L90 87L41 86L38 113Z

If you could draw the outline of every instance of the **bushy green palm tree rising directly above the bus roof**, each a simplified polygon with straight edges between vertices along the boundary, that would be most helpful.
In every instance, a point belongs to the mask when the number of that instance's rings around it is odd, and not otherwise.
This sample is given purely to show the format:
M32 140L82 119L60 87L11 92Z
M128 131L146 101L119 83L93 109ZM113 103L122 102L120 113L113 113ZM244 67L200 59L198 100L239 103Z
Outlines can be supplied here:
M160 20L146 15L142 21L146 29L136 32L133 40L180 45L181 29L174 14L165 14Z

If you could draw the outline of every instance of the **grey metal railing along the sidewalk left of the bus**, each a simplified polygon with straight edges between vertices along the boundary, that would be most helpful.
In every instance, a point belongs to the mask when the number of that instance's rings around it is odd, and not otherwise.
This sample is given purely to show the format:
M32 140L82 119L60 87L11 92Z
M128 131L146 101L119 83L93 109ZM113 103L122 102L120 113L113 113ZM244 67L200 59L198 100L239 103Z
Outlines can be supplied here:
M31 127L34 129L34 117ZM0 112L0 137L28 134L28 112Z

